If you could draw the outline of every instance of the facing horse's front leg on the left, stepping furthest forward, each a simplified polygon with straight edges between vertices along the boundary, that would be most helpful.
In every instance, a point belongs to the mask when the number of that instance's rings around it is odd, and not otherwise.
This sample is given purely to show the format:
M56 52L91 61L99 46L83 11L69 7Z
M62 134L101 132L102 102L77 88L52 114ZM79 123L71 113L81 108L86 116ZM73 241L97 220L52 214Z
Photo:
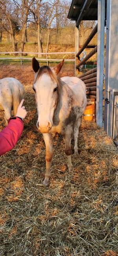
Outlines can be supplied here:
M44 181L42 182L44 185L49 184L49 178L51 176L50 166L52 160L52 148L53 148L53 136L52 134L43 134L44 142L46 145L46 173Z

